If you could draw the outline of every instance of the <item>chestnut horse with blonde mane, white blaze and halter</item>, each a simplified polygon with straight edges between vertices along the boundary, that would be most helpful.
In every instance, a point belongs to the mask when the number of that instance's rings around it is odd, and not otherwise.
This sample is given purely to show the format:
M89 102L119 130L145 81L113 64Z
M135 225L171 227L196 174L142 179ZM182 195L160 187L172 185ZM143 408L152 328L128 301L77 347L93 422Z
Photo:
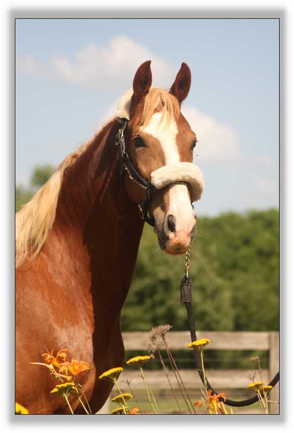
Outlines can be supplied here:
M120 314L145 221L170 255L196 234L192 201L204 182L181 113L191 71L183 63L169 91L151 81L147 61L115 117L16 214L15 397L29 413L69 413L50 395L56 379L30 364L45 346L88 362L79 380L93 412L103 406L112 384L98 377L124 360Z

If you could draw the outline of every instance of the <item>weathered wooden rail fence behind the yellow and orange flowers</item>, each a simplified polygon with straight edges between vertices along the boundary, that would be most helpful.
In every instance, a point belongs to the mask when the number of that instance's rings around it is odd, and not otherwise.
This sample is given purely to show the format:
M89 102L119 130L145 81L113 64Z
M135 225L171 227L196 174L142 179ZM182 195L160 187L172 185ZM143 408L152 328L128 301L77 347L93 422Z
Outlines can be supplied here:
M146 350L148 346L148 332L123 332L123 341L125 350L136 350L138 354L140 351ZM211 332L199 331L197 338L208 338L209 345L205 350L219 349L219 350L267 350L269 351L269 368L263 370L263 380L268 383L279 371L279 333L278 332ZM167 334L167 341L171 350L187 349L190 340L190 333L187 331L177 332L170 331ZM233 370L233 369L207 369L206 374L209 382L218 391L246 389L248 385L247 374L252 370ZM135 373L135 372L134 372ZM137 374L132 374L129 369L123 371L119 377L121 382L126 377L134 376L132 379L132 388L142 389L142 379ZM168 382L165 374L161 370L145 370L148 385L152 390L168 389ZM201 381L193 369L180 370L183 382L189 389L199 389ZM177 388L176 379L172 372L169 372L169 379L175 388ZM123 383L121 383L123 385ZM270 399L279 401L279 384L271 391ZM105 412L104 412L105 413ZM270 413L278 414L279 405L271 404Z

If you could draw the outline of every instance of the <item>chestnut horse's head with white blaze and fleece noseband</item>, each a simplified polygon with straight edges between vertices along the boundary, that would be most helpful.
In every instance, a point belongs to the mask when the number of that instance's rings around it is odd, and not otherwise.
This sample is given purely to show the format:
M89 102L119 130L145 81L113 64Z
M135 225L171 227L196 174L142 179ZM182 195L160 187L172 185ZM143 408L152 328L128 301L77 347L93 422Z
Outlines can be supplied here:
M154 219L160 248L167 254L186 253L196 234L192 202L204 188L201 171L193 163L196 134L181 113L191 85L183 63L170 90L151 87L150 61L136 72L133 88L119 111L127 118L125 146L136 171L151 185L148 213ZM140 205L146 191L129 171L124 183L132 201Z

